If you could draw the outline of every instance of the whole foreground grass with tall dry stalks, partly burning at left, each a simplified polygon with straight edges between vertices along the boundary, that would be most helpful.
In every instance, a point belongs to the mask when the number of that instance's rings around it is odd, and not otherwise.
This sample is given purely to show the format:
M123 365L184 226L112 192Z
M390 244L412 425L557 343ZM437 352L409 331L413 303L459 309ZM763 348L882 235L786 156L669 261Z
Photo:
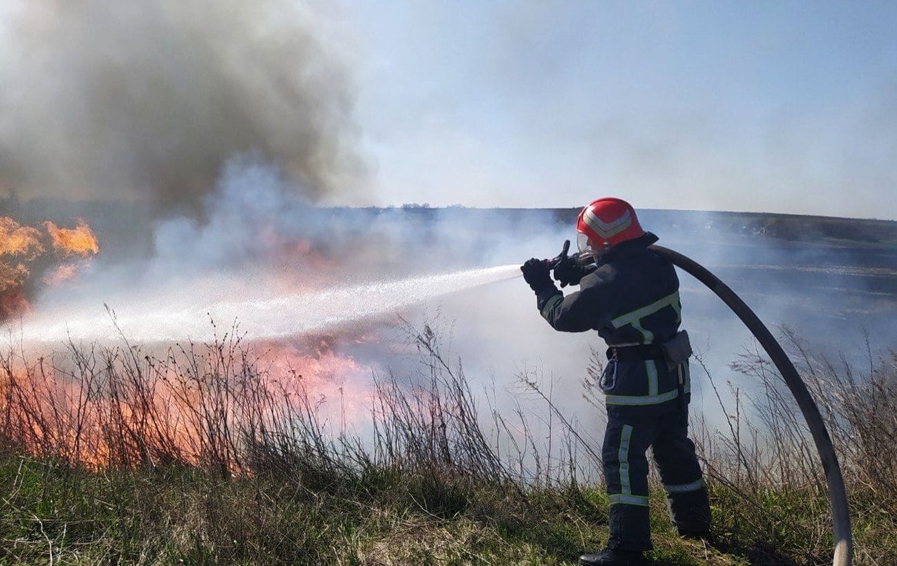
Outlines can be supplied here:
M130 344L69 344L37 361L8 353L0 562L560 564L602 544L606 498L584 472L600 450L550 394L540 398L556 444L545 454L527 412L484 407L429 327L409 338L422 376L375 375L370 430L348 431L300 368L263 363L232 335L161 355ZM893 563L897 354L870 351L862 375L801 357L849 482L857 563ZM735 367L766 395L738 392L725 434L692 418L717 541L675 536L656 485L655 562L828 562L806 431L761 356Z

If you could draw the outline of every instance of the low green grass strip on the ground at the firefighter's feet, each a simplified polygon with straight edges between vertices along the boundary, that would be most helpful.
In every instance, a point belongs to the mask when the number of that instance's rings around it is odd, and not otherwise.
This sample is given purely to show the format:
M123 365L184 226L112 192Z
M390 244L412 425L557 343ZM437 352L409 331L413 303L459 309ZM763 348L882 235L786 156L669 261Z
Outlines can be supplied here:
M751 509L711 484L714 545L675 534L651 498L655 564L822 564L823 494L782 487ZM382 474L309 490L296 478L70 470L0 458L0 563L575 564L607 536L595 487L532 489ZM855 498L858 563L897 562L897 523Z

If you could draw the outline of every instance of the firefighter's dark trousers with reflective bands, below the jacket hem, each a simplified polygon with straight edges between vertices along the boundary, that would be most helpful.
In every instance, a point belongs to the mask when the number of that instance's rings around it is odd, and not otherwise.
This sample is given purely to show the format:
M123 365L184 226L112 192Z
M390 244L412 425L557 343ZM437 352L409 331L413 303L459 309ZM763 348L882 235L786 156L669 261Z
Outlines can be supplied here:
M710 503L701 466L688 438L688 424L675 404L640 410L608 410L602 449L605 483L610 496L608 546L650 550L648 459L652 448L666 501L680 532L701 533L710 528Z

